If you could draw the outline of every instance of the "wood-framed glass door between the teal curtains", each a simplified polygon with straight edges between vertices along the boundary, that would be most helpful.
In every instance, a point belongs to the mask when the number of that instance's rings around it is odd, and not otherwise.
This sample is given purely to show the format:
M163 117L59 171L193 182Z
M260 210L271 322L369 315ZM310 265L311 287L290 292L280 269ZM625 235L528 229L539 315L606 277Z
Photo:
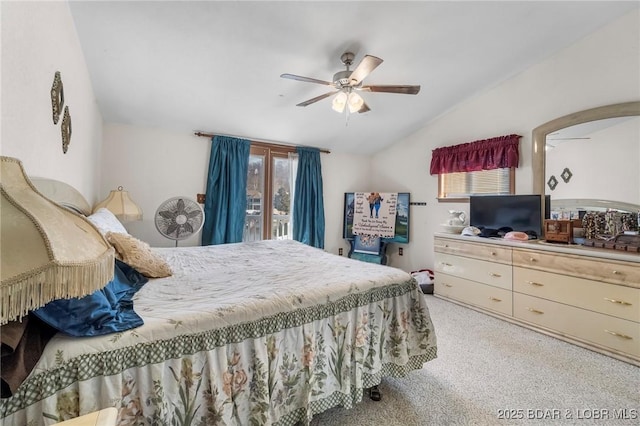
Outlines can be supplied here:
M294 147L252 142L243 241L291 239Z

